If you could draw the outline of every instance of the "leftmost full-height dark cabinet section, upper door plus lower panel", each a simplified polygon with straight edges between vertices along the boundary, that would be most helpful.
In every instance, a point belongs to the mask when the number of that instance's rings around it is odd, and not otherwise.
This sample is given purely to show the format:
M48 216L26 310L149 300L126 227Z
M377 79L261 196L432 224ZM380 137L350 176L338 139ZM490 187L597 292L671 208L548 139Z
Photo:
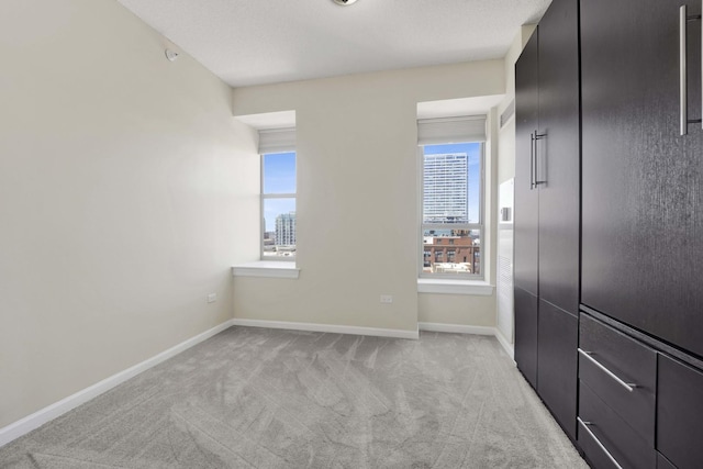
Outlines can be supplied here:
M515 362L537 388L539 199L534 186L534 135L538 121L538 32L515 64Z

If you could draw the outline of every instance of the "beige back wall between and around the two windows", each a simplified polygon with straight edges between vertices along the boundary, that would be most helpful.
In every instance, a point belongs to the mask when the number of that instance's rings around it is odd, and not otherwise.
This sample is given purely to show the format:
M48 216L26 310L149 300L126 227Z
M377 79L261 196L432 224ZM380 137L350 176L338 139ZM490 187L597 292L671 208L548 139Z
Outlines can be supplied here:
M235 317L416 331L432 304L434 322L456 323L451 295L419 309L416 103L503 92L503 60L235 89L235 115L295 111L301 269L235 278ZM481 322L493 303L476 303Z

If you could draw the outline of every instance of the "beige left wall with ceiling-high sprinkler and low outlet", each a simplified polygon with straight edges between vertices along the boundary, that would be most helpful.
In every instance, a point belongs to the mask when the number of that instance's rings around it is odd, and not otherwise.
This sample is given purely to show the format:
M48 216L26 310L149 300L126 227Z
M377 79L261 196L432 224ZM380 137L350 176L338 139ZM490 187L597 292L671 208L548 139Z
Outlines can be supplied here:
M0 2L0 427L232 317L255 136L164 46L112 0Z

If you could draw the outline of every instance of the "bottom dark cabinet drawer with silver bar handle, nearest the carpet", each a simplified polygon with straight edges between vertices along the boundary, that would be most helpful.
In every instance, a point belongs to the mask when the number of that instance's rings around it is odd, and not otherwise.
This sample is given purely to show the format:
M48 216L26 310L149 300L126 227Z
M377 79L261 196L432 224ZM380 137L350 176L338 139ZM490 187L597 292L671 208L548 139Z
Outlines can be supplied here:
M657 459L654 446L613 412L587 384L581 382L579 390L579 444L595 468L611 467L599 465L596 459L607 459L612 467L617 467L612 457L623 468L655 469ZM585 440L585 447L582 438ZM592 439L598 439L600 445L591 442Z

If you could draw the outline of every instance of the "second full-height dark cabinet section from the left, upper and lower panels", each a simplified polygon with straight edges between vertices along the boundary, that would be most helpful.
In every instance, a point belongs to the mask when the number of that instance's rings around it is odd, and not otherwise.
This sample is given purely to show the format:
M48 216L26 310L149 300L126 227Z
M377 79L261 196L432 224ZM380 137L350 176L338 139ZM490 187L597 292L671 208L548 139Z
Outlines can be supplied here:
M555 0L539 22L537 391L576 439L579 311L579 10Z

